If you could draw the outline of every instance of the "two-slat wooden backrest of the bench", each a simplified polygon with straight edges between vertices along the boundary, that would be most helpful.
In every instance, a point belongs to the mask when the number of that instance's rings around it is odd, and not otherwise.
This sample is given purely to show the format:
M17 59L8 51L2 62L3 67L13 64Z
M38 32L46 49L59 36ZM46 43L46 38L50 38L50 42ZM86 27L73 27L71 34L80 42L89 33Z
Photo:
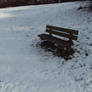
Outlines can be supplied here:
M48 32L50 35L54 34L54 35L58 35L61 37L69 38L70 40L77 40L77 38L78 38L77 30L72 30L72 29L67 29L67 28L61 28L61 27L47 25L46 32Z

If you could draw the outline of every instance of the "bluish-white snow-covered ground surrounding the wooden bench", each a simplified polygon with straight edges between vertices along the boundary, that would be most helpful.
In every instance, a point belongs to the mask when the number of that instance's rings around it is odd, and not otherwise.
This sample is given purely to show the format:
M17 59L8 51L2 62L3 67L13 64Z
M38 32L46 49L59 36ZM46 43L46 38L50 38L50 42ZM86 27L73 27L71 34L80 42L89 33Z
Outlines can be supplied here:
M0 9L0 92L92 92L92 13L79 6ZM71 60L36 46L46 24L79 30Z

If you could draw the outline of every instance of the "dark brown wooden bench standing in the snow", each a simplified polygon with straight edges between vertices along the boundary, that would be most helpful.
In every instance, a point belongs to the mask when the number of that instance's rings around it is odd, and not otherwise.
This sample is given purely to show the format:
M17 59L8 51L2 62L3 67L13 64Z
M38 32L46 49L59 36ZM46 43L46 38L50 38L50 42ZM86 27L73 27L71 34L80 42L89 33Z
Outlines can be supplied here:
M59 49L69 49L73 45L73 40L77 40L78 31L47 25L47 34L38 35L41 40L52 42Z

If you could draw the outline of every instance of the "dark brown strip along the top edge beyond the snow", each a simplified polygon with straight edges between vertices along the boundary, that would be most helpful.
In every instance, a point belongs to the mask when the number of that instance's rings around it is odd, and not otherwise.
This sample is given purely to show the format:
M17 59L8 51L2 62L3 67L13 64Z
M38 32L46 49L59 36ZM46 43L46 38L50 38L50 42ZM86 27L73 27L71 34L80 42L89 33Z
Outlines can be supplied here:
M0 0L0 7L13 7L24 5L38 5L50 3L62 3L70 1L83 1L83 0Z

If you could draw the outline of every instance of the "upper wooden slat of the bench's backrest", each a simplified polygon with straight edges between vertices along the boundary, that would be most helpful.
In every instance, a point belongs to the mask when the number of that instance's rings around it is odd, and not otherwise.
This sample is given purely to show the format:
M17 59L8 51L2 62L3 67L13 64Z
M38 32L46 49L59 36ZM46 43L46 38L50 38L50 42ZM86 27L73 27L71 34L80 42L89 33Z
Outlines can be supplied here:
M50 26L50 25L47 25L46 28L52 29L52 30L58 30L58 31L66 32L66 33L71 33L71 34L74 34L74 35L78 35L78 31L73 30L73 29L61 28L61 27Z

